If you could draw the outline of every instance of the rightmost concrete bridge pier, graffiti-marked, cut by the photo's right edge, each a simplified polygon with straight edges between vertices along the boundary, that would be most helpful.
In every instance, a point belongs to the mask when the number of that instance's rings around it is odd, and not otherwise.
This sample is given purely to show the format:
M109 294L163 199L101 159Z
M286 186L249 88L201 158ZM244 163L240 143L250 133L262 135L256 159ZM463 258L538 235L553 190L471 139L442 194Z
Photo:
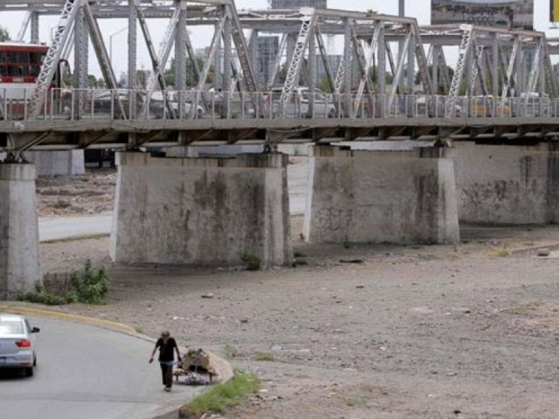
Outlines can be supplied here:
M557 144L454 142L460 221L494 225L559 221Z

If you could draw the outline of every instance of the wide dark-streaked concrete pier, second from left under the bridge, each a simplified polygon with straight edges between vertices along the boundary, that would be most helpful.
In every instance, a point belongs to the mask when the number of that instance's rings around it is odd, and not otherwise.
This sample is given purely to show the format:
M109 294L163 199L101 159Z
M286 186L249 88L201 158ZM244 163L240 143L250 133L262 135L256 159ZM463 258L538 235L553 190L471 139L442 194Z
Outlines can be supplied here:
M117 154L110 253L121 263L291 263L287 156Z

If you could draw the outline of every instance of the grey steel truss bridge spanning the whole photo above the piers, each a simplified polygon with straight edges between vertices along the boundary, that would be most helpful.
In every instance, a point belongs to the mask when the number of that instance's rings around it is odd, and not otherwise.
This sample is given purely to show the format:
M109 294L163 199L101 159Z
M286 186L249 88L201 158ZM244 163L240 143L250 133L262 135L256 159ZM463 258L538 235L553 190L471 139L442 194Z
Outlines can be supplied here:
M414 18L331 9L243 11L233 0L0 4L0 14L17 10L26 12L21 40L29 32L31 41L39 41L41 16L58 15L59 21L36 86L18 100L0 89L0 151L360 138L514 142L559 135L551 63L559 41L542 32L419 27ZM130 89L118 87L99 27L114 18L128 20ZM154 19L166 25L158 47L147 25ZM189 38L195 26L212 32L202 66ZM277 37L266 80L255 71L261 36ZM343 46L336 59L327 39ZM140 42L151 60L142 87ZM73 87L53 89L59 63L71 55ZM173 87L164 79L170 57ZM92 58L105 89L87 88ZM190 83L188 66L194 71ZM328 94L316 90L319 72Z

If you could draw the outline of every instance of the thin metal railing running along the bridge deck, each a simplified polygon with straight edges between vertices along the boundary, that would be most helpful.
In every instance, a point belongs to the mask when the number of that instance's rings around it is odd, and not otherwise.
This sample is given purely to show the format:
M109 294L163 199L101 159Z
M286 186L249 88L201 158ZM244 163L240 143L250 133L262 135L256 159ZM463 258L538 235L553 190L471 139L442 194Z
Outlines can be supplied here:
M0 119L27 120L31 88L0 89ZM379 119L559 117L559 99L524 94L426 96L423 94L309 94L298 89L281 99L275 91L161 91L49 89L40 120L210 120L210 119Z

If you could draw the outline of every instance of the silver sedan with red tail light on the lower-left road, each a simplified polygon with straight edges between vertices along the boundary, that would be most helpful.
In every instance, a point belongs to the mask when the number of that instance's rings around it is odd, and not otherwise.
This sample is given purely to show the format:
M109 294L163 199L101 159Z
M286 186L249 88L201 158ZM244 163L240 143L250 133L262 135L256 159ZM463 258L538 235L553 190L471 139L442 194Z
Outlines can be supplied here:
M33 376L37 365L36 339L39 328L31 328L24 316L0 313L0 369L23 369Z

